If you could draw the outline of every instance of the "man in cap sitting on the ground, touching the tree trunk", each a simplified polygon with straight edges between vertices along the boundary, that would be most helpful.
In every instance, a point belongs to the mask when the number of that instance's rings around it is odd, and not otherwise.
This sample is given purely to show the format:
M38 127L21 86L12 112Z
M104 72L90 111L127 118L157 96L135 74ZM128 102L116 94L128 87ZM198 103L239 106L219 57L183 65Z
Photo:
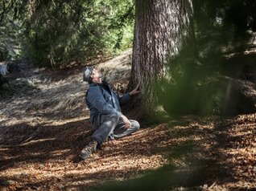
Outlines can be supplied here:
M122 115L120 104L126 104L131 96L138 94L138 85L129 93L119 96L102 81L101 71L93 67L85 67L84 81L89 83L85 94L85 102L90 110L90 122L93 124L91 141L81 151L80 157L85 160L109 137L111 140L128 136L138 131L136 120L128 120Z

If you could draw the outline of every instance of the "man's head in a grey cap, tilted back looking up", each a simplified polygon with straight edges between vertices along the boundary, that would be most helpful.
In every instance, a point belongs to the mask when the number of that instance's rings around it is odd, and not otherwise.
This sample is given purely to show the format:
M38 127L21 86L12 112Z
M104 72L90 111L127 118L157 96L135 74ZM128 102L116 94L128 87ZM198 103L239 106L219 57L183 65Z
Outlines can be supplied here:
M85 67L84 81L88 83L102 83L101 71L94 67Z

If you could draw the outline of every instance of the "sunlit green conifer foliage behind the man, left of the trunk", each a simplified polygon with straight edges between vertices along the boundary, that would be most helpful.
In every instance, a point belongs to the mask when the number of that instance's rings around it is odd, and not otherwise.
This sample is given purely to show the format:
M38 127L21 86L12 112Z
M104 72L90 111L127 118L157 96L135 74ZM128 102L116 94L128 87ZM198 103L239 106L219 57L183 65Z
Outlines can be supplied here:
M84 62L114 54L132 42L132 0L16 1L8 14L20 23L21 55L41 66Z

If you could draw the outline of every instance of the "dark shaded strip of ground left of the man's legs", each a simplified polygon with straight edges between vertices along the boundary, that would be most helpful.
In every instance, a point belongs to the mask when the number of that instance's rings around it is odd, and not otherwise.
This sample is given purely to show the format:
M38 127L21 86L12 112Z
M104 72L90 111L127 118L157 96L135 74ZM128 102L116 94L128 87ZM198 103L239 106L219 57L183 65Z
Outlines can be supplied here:
M56 126L15 124L1 128L0 169L20 163L43 163L76 156L89 142L92 128L89 120Z

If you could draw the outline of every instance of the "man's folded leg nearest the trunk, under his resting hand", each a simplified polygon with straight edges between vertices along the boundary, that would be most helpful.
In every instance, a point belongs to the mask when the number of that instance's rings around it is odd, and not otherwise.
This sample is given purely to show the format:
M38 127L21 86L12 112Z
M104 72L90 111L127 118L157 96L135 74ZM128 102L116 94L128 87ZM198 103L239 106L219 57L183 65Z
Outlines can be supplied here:
M138 131L139 124L137 120L130 120L130 128L125 128L122 120L118 121L117 127L114 128L114 138L129 136L131 133Z

